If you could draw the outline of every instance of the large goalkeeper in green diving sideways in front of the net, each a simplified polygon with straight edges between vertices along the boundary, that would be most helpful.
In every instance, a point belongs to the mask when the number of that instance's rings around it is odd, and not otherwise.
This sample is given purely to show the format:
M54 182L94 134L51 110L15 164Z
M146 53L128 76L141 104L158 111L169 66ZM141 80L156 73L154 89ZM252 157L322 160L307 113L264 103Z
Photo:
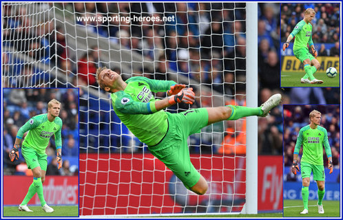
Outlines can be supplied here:
M191 164L187 137L222 120L237 120L249 115L264 117L281 101L281 95L276 94L257 108L229 105L169 113L163 109L180 102L194 103L192 88L186 89L185 85L171 80L151 80L140 76L124 82L120 75L105 67L96 71L96 80L101 89L111 93L112 106L118 118L141 142L147 144L152 155L183 181L186 188L198 195L207 191L207 181ZM169 97L155 100L152 92L158 91L167 91Z

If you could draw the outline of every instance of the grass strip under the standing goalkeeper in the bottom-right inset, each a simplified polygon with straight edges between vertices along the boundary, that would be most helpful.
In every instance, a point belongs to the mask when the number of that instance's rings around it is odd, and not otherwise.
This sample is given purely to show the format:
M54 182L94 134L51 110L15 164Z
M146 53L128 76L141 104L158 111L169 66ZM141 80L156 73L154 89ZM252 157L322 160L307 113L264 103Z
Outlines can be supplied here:
M323 201L324 214L318 214L317 200L309 200L309 214L304 210L302 200L284 199L284 217L340 217L340 201Z

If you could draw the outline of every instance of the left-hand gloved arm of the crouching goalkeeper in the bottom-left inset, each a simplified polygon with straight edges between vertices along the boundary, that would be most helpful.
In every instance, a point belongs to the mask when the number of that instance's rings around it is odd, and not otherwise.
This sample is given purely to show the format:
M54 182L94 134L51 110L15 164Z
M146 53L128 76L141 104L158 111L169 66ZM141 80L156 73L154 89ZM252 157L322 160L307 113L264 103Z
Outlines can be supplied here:
M38 126L39 122L35 118L31 118L26 122L19 131L17 132L17 136L14 141L14 146L8 156L10 157L10 160L13 162L14 159L19 158L19 148L20 148L20 142L21 139L23 139L23 135L26 131L30 131L31 129L34 129Z

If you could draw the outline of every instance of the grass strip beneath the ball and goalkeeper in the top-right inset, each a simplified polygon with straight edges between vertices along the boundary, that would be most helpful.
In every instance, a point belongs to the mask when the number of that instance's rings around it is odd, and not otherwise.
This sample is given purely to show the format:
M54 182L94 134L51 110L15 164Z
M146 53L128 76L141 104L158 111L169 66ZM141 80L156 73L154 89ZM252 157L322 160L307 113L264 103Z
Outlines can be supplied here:
M313 76L318 80L323 80L322 84L304 84L300 79L305 73L302 72L281 72L281 87L339 87L340 74L335 78L329 78L325 73L315 73Z

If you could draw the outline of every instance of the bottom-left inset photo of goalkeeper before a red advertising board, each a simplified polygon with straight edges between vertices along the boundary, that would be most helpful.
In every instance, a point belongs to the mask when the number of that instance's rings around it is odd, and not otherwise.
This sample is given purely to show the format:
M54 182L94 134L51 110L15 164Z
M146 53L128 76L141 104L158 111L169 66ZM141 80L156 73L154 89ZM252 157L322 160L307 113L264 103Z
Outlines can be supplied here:
M3 217L79 217L79 89L3 89L2 159Z

